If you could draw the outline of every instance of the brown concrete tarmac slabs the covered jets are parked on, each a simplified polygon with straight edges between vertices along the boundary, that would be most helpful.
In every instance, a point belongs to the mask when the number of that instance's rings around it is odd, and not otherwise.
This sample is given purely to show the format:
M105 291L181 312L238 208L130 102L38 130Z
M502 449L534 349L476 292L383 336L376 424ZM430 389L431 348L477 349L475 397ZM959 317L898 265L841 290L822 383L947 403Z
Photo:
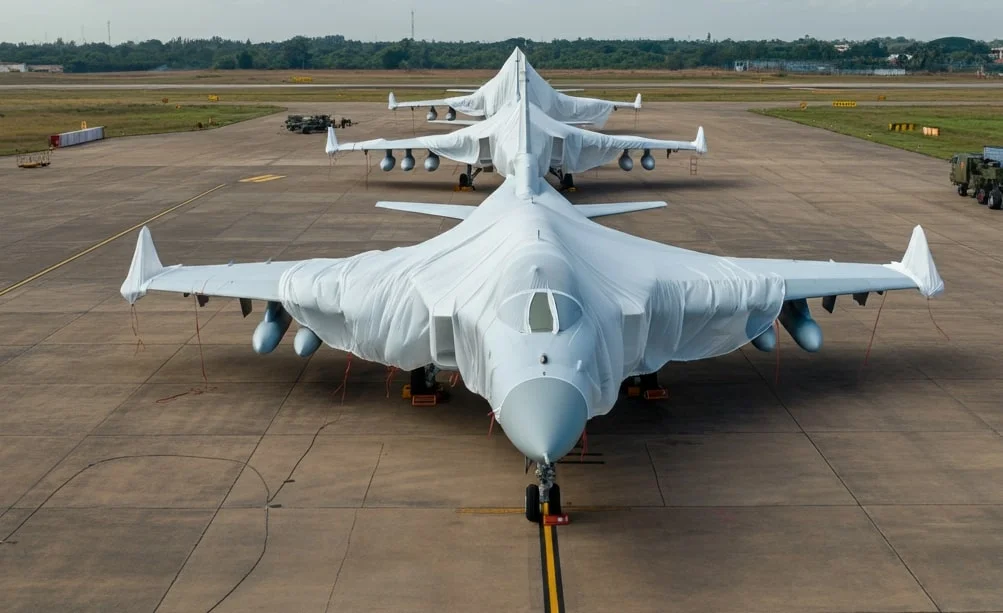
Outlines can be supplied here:
M359 120L343 140L412 132L382 104L300 111ZM419 133L444 129L422 116ZM453 192L452 165L384 174L378 152L368 175L359 154L330 165L323 135L283 118L58 150L43 170L0 160L0 609L550 606L523 458L461 383L411 407L383 366L303 360L291 335L255 354L261 305L242 319L235 301L149 295L133 317L118 295L135 232L107 239L172 208L149 224L164 264L340 257L455 223L377 200L476 204L499 183ZM666 200L603 223L735 256L885 263L923 224L947 293L813 303L819 353L783 333L778 360L670 364L668 399L591 422L588 462L559 467L561 608L1003 610L1003 213L959 198L944 162L741 105L647 104L636 129L698 124L695 174L683 155L614 165L570 198Z

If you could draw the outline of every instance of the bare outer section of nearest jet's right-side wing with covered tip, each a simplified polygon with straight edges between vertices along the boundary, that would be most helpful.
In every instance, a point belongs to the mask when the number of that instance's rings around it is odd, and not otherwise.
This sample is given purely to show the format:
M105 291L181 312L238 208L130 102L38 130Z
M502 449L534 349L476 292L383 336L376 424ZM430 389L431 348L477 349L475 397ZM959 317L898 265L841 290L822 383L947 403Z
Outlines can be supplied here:
M924 296L930 297L944 291L944 280L937 272L926 234L920 226L913 230L902 262L891 264L727 259L751 272L783 277L784 300L846 294L864 295L859 300L865 300L870 292L901 289L917 289Z

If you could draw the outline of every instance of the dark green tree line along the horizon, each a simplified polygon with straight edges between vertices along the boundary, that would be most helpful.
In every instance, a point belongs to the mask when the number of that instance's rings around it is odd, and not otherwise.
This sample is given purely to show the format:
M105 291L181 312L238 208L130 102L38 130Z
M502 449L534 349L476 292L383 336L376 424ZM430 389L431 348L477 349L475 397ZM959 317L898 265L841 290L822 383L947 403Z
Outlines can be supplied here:
M849 44L840 51L837 44ZM991 46L1000 41L951 37L933 41L877 38L866 41L828 41L804 37L783 40L553 40L514 38L498 42L436 42L404 39L365 42L344 36L285 41L251 42L220 37L144 40L108 45L77 44L58 39L51 43L0 43L0 61L61 64L67 72L185 69L385 69L423 70L497 68L517 45L537 68L566 69L731 69L739 60L815 61L837 68L866 68L888 64L897 55L899 65L912 70L951 70L990 62Z

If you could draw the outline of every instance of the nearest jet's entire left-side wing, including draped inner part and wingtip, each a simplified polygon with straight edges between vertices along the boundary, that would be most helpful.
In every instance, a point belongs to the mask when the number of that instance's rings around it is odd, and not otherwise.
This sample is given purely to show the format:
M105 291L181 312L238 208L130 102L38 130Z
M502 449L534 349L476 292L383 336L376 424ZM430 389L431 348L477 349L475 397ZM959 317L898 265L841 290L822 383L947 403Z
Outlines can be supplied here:
M411 369L430 363L431 356L428 310L401 272L405 250L343 259L164 267L143 227L120 291L129 304L154 290L195 294L200 304L209 296L239 298L245 317L252 300L267 301L263 324L274 325L266 325L261 334L262 324L256 329L252 346L259 353L273 350L295 319L300 328L314 332L312 349L296 349L303 357L323 342L369 361ZM289 316L285 325L283 311Z

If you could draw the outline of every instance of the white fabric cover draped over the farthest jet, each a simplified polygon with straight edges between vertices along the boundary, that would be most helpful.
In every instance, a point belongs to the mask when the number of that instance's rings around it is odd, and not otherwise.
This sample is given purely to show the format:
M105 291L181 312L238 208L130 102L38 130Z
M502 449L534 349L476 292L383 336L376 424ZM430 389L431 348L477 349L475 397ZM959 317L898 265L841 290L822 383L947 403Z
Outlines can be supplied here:
M571 96L557 91L526 61L526 55L519 48L513 51L497 74L479 89L467 95L443 98L440 102L463 114L490 117L516 99L520 62L526 63L530 101L558 121L582 121L602 127L617 106L608 100ZM631 106L631 103L620 105Z

